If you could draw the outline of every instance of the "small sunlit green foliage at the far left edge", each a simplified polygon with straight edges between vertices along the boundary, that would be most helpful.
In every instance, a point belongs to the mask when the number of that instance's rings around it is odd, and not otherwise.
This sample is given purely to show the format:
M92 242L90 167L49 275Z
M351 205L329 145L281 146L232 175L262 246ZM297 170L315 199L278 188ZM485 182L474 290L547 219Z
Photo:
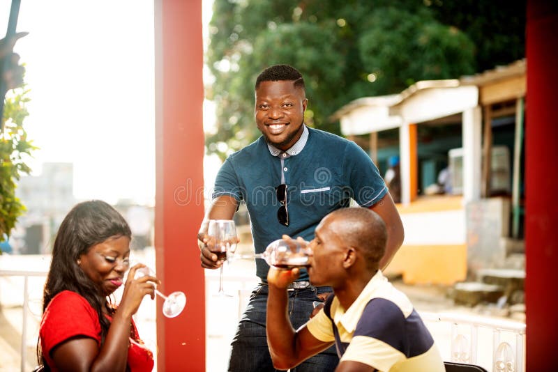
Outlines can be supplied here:
M31 171L25 158L36 148L23 127L29 115L26 108L29 90L23 86L12 92L6 97L0 132L0 237L9 236L17 218L25 212L25 206L15 196L15 187L22 173Z

